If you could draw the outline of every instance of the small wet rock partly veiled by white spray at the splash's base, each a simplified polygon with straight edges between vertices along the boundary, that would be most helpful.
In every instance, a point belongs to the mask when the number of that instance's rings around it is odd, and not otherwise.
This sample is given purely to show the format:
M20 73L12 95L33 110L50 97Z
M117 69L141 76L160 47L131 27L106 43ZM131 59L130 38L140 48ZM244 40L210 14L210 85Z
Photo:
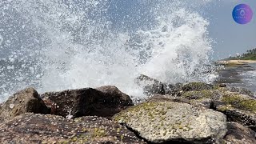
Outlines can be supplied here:
M151 95L151 94L166 94L165 87L162 82L150 78L146 75L141 74L137 79L136 83L139 86L143 87L144 94Z

